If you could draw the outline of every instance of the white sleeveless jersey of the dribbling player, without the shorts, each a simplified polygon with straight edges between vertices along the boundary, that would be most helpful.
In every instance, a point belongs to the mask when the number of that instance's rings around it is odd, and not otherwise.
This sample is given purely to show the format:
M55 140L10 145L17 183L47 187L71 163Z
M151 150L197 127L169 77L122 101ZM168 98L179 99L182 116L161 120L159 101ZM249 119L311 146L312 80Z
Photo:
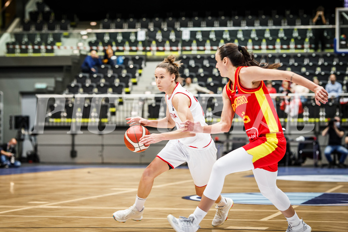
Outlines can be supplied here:
M205 123L203 109L200 106L198 100L190 92L188 92L185 88L183 88L179 82L177 82L171 97L169 97L166 94L166 101L167 101L169 113L175 122L176 128L180 129L183 127L183 126L180 126L179 124L181 120L178 117L178 114L172 103L172 99L174 95L177 93L185 94L187 97L189 97L191 101L189 110L191 111L194 122L200 122L202 126L207 125ZM210 134L206 134L206 133L197 133L196 136L179 139L179 142L192 148L204 148L210 144L211 136Z

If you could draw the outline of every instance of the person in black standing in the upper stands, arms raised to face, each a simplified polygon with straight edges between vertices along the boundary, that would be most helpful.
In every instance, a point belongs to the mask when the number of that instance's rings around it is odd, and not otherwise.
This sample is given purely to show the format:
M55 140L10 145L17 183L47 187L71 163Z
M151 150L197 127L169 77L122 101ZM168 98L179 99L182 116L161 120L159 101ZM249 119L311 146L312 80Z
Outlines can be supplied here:
M314 25L325 25L326 24L326 18L324 15L324 7L318 6L317 13L312 19L312 22ZM325 50L325 35L324 35L325 28L315 28L313 29L313 35L315 38L314 43L314 51L319 50L319 43L321 44L321 50Z

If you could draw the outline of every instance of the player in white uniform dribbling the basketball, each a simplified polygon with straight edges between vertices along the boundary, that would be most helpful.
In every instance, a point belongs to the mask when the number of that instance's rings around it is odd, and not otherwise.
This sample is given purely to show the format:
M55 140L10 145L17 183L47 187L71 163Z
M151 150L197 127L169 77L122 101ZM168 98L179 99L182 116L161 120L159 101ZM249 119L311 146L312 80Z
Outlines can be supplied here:
M140 124L143 126L157 128L174 128L175 131L145 135L140 139L140 143L152 144L163 140L169 140L167 145L155 157L151 164L144 170L141 177L138 193L133 206L129 209L117 211L113 217L118 222L126 222L128 219L140 221L143 219L144 205L150 195L154 180L162 173L174 169L183 163L187 163L191 173L195 191L198 196L202 196L206 184L208 183L210 172L216 161L216 148L210 134L193 134L181 132L181 122L190 120L207 125L204 119L204 112L197 99L180 82L179 75L181 63L175 61L173 55L168 56L155 70L156 84L160 91L166 93L167 115L159 120L147 120L141 117L127 118L130 125ZM216 200L216 214L212 221L212 226L221 226L226 220L233 201L221 195Z

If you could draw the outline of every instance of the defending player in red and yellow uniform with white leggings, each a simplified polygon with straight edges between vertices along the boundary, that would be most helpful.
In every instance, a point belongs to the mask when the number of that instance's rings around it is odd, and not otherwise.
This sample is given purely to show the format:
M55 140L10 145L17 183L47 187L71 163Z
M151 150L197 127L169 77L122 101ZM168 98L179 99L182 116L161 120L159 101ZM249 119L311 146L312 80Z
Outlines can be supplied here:
M252 53L234 43L218 48L216 68L222 77L230 80L223 89L221 121L202 126L187 120L185 130L194 133L228 132L234 114L244 120L249 144L238 148L218 159L211 171L209 182L196 210L187 219L176 219L169 215L168 221L176 232L195 232L198 224L207 214L215 199L222 191L225 176L231 173L252 170L261 194L280 210L288 221L286 232L311 232L312 229L296 214L289 198L277 187L278 162L286 150L282 126L273 106L264 80L288 80L305 86L315 93L315 100L328 102L328 93L314 82L291 71L275 68L280 64L266 64L261 67Z

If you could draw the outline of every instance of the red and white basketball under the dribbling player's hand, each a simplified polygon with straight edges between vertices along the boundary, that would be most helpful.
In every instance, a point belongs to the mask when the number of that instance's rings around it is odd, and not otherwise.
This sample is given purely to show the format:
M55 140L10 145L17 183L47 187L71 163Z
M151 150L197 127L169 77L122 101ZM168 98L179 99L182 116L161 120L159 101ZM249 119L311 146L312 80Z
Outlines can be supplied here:
M150 145L145 145L142 143L139 143L139 140L144 135L150 135L150 132L148 129L141 125L135 125L128 128L128 130L125 133L125 144L126 147L131 150L132 152L143 152L145 151Z

